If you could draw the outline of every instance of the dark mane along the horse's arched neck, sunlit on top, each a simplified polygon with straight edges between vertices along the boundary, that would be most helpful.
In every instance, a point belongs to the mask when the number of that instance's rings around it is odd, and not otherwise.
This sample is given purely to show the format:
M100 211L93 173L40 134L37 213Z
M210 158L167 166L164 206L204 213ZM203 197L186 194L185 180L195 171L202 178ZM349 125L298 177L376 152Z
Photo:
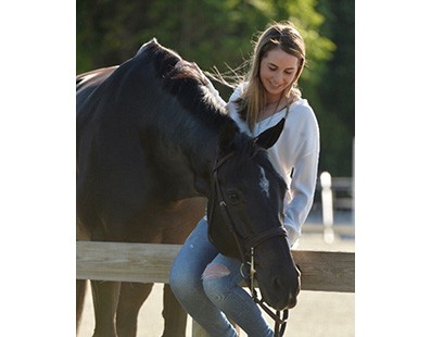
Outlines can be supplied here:
M201 122L220 126L230 120L226 108L208 90L208 79L198 65L182 60L175 51L161 46L155 38L143 45L137 55L141 53L152 61L155 75L163 80L164 90Z

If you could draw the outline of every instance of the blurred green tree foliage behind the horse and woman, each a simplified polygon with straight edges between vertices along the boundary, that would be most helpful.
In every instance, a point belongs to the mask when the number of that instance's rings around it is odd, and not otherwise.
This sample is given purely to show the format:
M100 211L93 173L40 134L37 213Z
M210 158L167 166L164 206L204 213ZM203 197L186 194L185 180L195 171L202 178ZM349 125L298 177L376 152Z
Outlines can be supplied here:
M256 33L290 20L307 46L300 86L319 120L320 171L350 175L354 135L353 0L77 0L77 73L119 64L155 37L205 71L239 68ZM217 85L227 100L230 89Z

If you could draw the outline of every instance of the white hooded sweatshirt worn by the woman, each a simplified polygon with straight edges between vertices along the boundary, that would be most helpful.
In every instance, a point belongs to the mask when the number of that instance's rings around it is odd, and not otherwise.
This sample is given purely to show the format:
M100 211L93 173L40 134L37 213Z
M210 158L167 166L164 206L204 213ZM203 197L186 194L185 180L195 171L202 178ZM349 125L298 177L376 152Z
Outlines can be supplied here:
M223 100L218 91L210 86L211 91ZM319 126L308 101L300 99L289 107L289 112L284 108L258 122L252 133L245 121L240 117L238 104L234 103L244 86L245 84L237 87L227 103L229 115L243 133L256 137L287 115L284 128L268 152L274 167L288 185L284 197L284 225L289 244L293 246L301 236L301 228L313 205L320 151Z

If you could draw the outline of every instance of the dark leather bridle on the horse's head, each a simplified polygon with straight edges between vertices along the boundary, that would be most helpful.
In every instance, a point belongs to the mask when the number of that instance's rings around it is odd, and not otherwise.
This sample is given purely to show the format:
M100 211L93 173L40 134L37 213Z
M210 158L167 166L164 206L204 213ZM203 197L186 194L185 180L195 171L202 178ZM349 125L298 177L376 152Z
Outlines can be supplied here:
M258 149L259 150L259 149ZM252 155L252 158L257 153L257 151ZM241 258L241 275L244 278L251 294L253 297L253 300L261 305L261 308L275 321L275 328L274 328L274 336L275 337L281 337L284 334L286 326L287 326L287 321L289 317L289 310L284 309L282 312L279 310L274 313L268 305L265 304L264 300L261 298L258 299L257 297L257 291L254 288L254 283L255 283L255 273L256 270L254 269L254 248L261 245L262 242L271 239L277 236L284 236L287 237L287 230L284 227L275 227L275 228L269 228L266 229L259 234L256 234L248 239L245 239L244 242L241 242L240 237L237 233L237 229L234 227L234 221L233 217L230 214L228 204L226 203L226 198L225 195L220 188L220 184L218 180L218 170L225 164L230 158L232 158L233 152L230 152L223 157L221 159L217 159L213 168L213 174L214 174L214 180L213 180L213 202L210 205L211 207L211 213L208 215L214 214L214 209L216 208L216 204L218 201L218 207L220 208L221 211L221 216L225 222L225 224L228 226L229 232L232 234L234 241L237 244L238 251L240 253ZM211 216L212 217L212 216ZM208 223L211 223L212 219L208 219ZM248 259L250 258L250 259ZM249 271L246 271L246 267L249 267ZM244 271L245 269L245 271Z

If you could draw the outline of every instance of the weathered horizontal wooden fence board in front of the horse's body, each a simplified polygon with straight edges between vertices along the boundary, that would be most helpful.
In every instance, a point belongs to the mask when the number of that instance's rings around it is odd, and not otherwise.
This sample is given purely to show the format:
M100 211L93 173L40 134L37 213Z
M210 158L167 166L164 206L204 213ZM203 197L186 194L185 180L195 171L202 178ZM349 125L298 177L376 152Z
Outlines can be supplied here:
M76 242L76 278L168 283L180 245ZM303 290L355 291L355 253L293 250Z

